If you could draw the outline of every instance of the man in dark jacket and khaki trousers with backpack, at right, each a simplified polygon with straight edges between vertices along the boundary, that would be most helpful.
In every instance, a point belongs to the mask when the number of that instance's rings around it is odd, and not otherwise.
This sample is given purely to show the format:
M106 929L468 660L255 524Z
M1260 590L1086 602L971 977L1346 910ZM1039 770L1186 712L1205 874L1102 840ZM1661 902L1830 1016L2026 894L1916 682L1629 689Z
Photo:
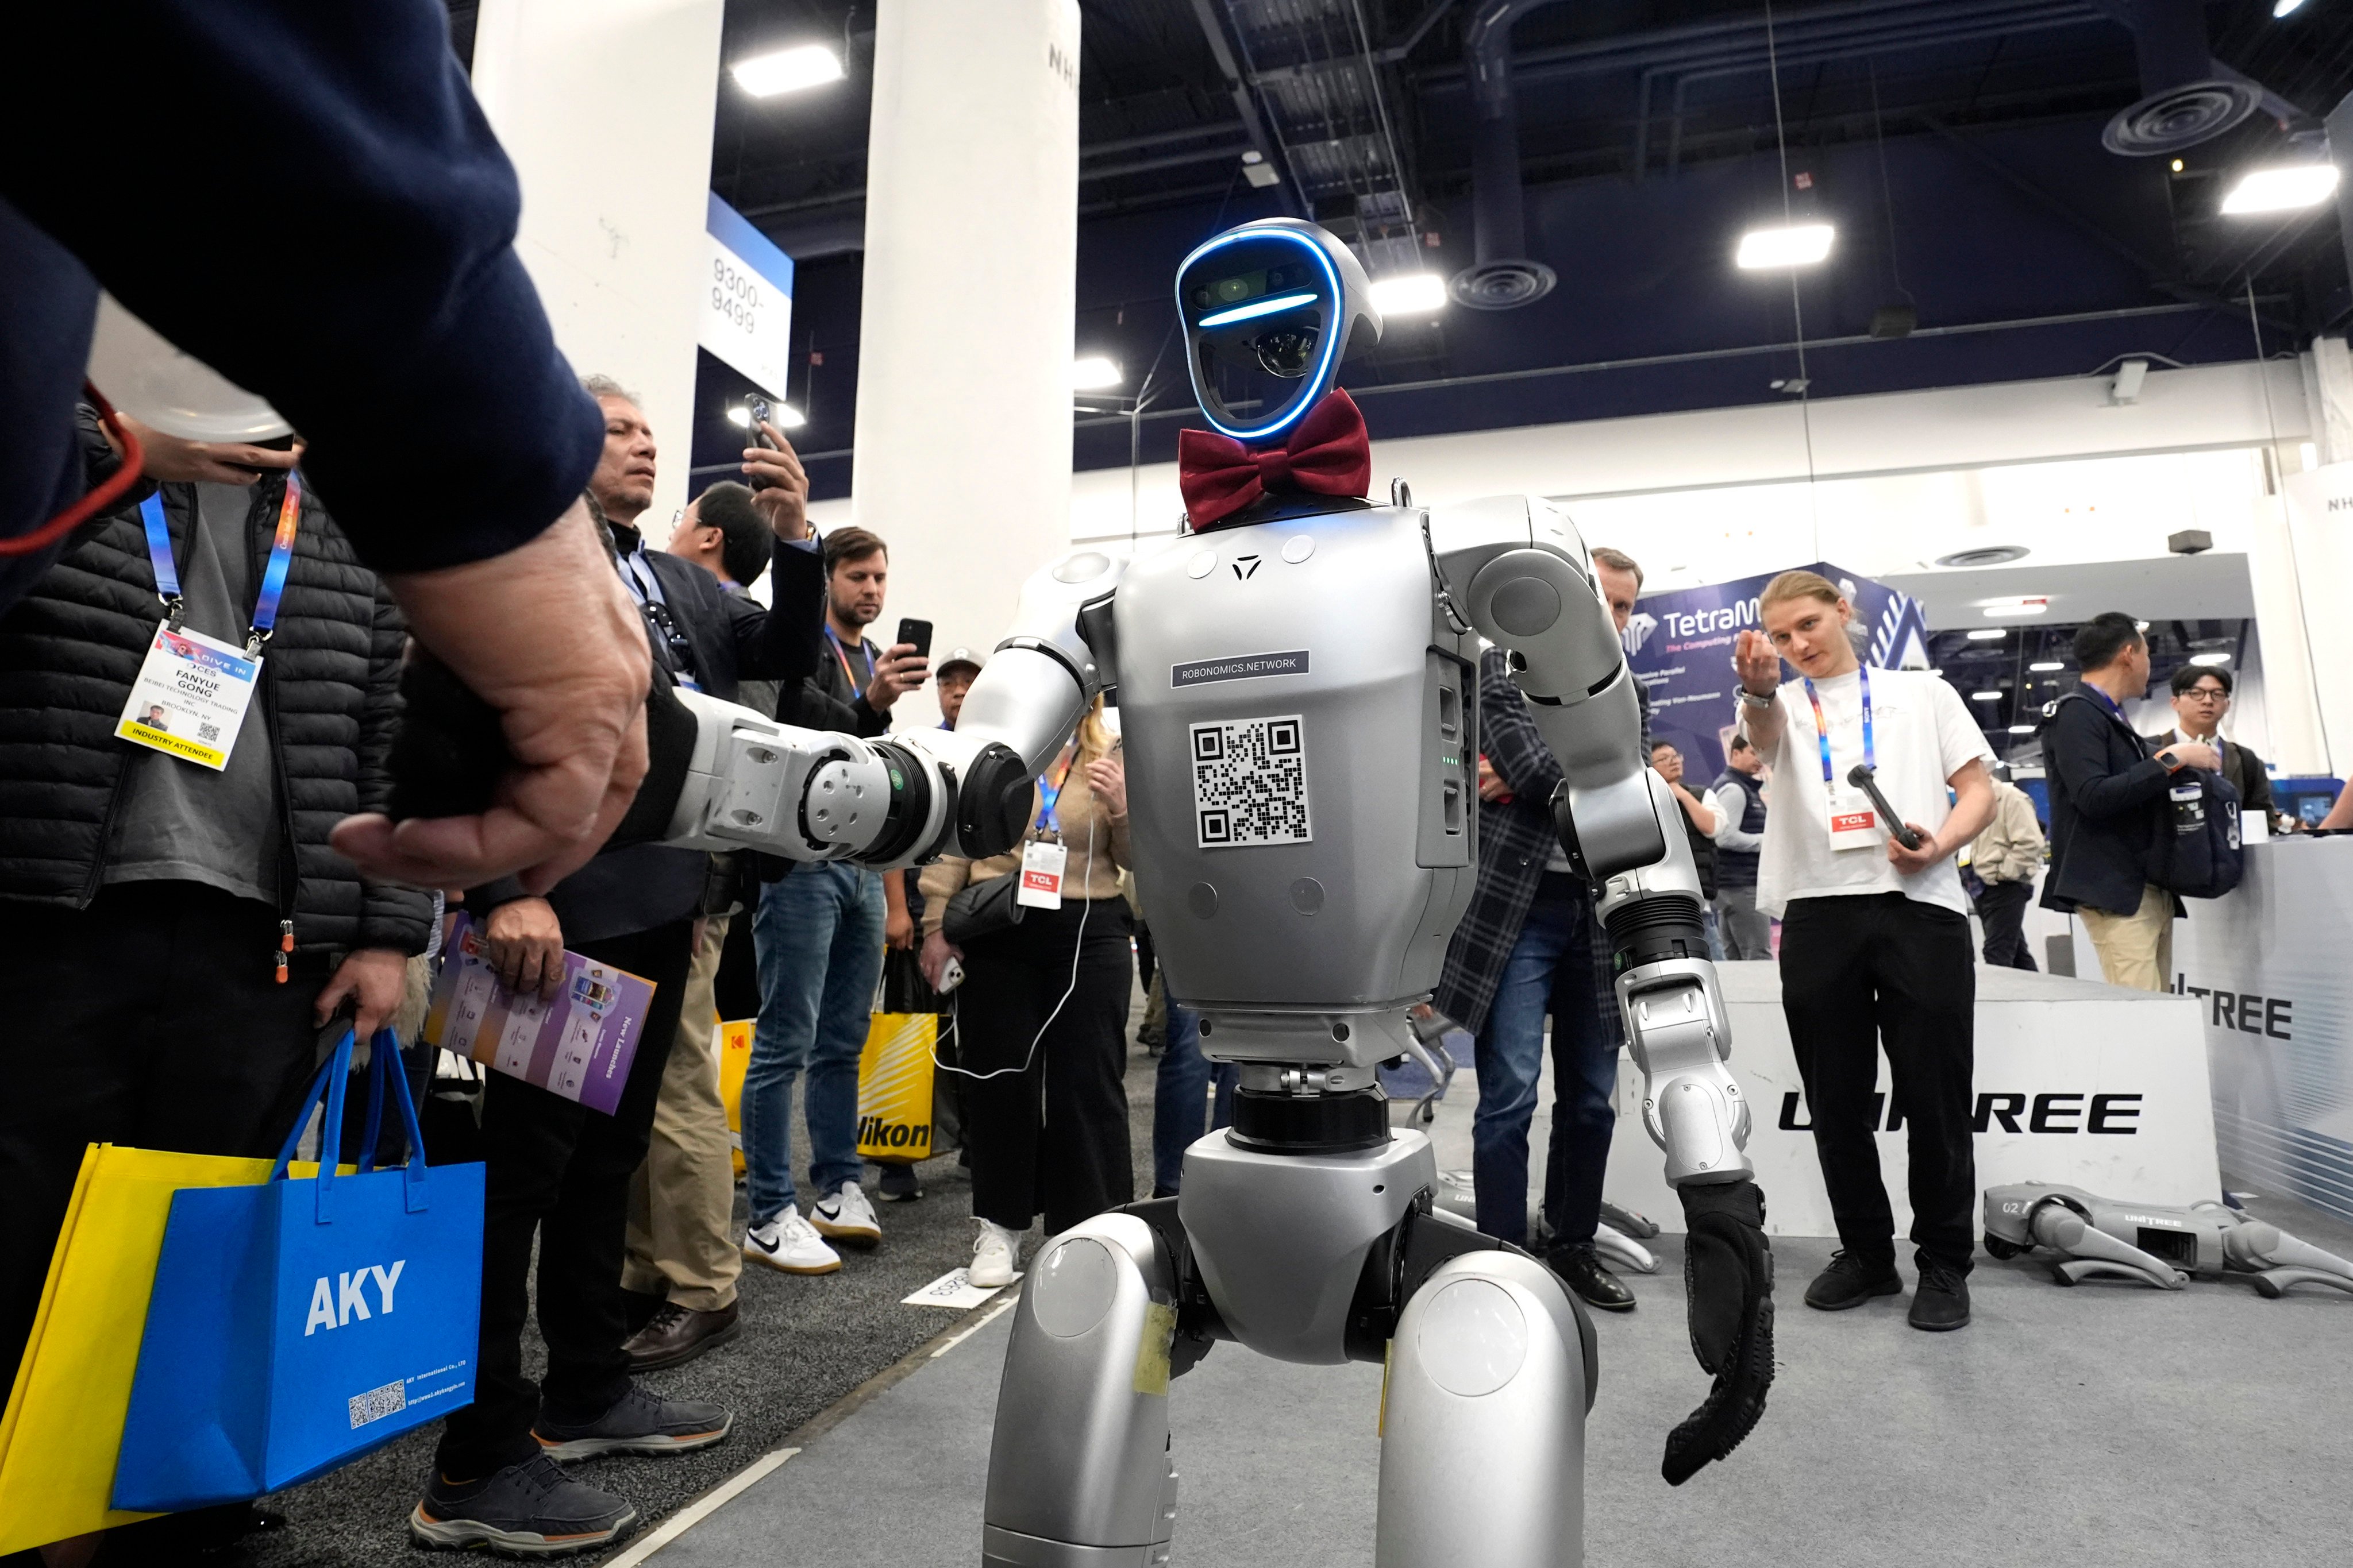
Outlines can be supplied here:
M2148 693L2148 642L2132 616L2111 609L2087 621L2075 632L2075 668L2082 684L2042 722L2052 795L2042 907L2082 919L2108 985L2169 990L2181 900L2148 882L2148 851L2172 776L2221 769L2221 757L2202 741L2151 755L2125 719L2125 703Z

